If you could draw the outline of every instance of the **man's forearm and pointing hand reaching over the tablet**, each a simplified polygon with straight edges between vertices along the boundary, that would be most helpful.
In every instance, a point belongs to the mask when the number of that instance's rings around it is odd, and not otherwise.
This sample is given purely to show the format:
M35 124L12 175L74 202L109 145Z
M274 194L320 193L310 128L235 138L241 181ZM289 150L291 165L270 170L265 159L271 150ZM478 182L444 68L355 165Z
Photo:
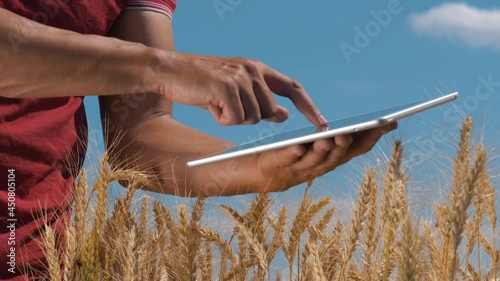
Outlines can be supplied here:
M257 61L175 53L82 35L2 8L0 35L2 97L152 92L207 109L220 124L234 125L286 119L288 111L276 104L274 92L290 98L313 124L326 122L296 81Z

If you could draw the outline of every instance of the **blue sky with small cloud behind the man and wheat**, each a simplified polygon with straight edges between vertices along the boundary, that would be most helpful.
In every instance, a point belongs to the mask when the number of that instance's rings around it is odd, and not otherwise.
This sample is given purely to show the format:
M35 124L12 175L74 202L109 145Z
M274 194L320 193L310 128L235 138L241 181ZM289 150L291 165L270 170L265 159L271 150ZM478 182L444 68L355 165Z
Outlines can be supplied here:
M436 150L449 149L439 143L440 133L445 132L449 138L448 132L458 133L461 114L476 118L486 143L500 140L497 1L310 3L178 0L173 20L176 49L261 60L299 80L330 120L459 91L460 99L454 105L400 123L400 129L381 142L390 143L395 137L411 140L409 147L416 155L429 156ZM377 22L374 14L386 17ZM359 35L359 30L365 35ZM365 36L369 42L361 44L359 38ZM356 51L346 56L341 46L347 45ZM180 105L175 106L174 116L191 127L233 142L244 142L262 130L279 132L308 125L289 101L277 100L293 116L284 127L268 123L221 127L208 112ZM96 98L86 98L85 102L91 130L99 132ZM91 134L93 138L98 135ZM97 147L91 145L88 162L95 162L95 155L102 151L102 139L92 141L96 142ZM382 145L363 159L369 161L384 151L388 149ZM418 163L426 157L421 158ZM358 159L326 175L317 190L323 195L349 193L346 184L350 178L359 178L363 161ZM295 200L302 193L303 188L298 187L280 197L283 201Z

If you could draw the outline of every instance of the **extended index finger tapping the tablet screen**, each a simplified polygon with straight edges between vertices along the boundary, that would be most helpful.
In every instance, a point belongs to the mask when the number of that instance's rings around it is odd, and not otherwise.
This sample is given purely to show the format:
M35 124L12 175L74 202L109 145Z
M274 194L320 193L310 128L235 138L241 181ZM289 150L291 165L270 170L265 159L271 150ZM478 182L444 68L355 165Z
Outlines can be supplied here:
M269 89L282 97L287 97L292 100L297 109L306 116L316 126L322 126L327 123L326 119L321 115L311 97L299 82L292 78L276 71L267 65L264 69L264 80Z

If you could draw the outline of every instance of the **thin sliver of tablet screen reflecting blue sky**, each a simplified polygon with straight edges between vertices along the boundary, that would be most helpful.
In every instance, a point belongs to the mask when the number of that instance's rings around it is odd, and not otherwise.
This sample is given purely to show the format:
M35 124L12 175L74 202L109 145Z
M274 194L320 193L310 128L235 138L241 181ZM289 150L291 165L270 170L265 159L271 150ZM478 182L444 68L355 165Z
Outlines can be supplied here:
M379 110L379 111L374 111L374 112L370 112L370 113L366 113L366 114L362 114L362 115L357 115L357 116L352 116L352 117L348 117L348 118L344 118L344 119L340 119L340 120L331 121L331 122L328 122L327 126L321 127L321 128L316 127L316 126L308 126L308 127L294 129L294 130L290 130L290 131L286 131L286 132L282 132L282 133L277 133L274 135L265 136L263 138L256 139L254 141L250 141L247 143L243 143L243 144L234 146L234 147L226 150L224 153L240 151L240 150L244 150L244 149L248 149L248 148L254 148L254 147L262 146L262 145L266 145L266 144L272 144L272 143L286 141L286 140L290 140L290 139L295 139L295 138L299 138L299 137L303 137L303 136L309 136L309 135L313 135L314 133L318 133L318 132L325 132L325 131L339 129L339 128L343 128L343 127L347 127L347 126L352 126L352 125L356 125L356 124L360 124L360 123L364 123L364 122L368 122L368 121L372 121L372 120L377 120L377 119L380 119L380 118L387 116L389 114L392 114L392 113L398 112L400 110L417 105L419 103L422 103L422 102L421 101L420 102L413 102L413 103L400 105L400 106L396 106L396 107L392 107L392 108L387 108L387 109L383 109L383 110Z

